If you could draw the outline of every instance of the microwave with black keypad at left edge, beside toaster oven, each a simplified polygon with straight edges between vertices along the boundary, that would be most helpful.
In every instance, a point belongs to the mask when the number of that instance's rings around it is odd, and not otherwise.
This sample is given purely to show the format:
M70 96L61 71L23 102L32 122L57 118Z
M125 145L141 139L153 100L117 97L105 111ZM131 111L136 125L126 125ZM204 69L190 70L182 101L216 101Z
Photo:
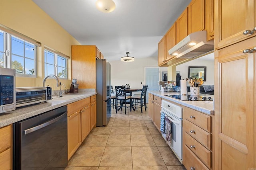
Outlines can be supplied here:
M0 113L15 110L15 74L15 69L0 68Z

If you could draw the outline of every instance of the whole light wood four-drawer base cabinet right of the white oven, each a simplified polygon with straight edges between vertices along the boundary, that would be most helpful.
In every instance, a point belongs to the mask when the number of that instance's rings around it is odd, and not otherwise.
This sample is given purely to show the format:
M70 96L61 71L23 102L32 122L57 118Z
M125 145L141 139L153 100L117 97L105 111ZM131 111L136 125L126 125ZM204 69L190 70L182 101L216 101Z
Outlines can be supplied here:
M213 116L183 106L183 164L186 169L214 169Z

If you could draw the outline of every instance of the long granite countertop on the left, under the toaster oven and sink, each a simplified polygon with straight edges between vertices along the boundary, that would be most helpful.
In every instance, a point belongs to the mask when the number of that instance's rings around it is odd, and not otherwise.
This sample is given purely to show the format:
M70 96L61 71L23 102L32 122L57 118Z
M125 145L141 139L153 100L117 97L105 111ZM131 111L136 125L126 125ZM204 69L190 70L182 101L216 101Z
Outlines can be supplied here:
M95 94L96 92L79 92L77 94L63 95L62 98L56 98L53 96L53 99L48 100L47 102L34 104L31 106L18 107L13 111L0 113L0 127L10 125L12 123L27 119L34 115L44 113L46 111L50 111L52 109L56 109L61 106L65 106L78 100L93 96Z

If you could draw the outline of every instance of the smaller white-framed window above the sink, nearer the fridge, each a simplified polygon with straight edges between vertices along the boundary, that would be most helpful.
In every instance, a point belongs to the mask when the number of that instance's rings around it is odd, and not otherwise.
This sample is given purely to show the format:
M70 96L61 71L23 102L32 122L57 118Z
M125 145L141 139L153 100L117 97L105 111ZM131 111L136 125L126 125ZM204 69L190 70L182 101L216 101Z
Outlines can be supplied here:
M68 59L49 49L44 50L44 76L54 74L59 78L67 79Z

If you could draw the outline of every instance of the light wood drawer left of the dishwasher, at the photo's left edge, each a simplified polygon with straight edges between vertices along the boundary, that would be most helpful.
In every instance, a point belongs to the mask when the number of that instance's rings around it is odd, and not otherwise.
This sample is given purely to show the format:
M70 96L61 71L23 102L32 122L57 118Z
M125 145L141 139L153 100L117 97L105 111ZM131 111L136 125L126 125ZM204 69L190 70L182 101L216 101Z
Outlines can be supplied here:
M11 146L11 125L0 128L0 152Z

